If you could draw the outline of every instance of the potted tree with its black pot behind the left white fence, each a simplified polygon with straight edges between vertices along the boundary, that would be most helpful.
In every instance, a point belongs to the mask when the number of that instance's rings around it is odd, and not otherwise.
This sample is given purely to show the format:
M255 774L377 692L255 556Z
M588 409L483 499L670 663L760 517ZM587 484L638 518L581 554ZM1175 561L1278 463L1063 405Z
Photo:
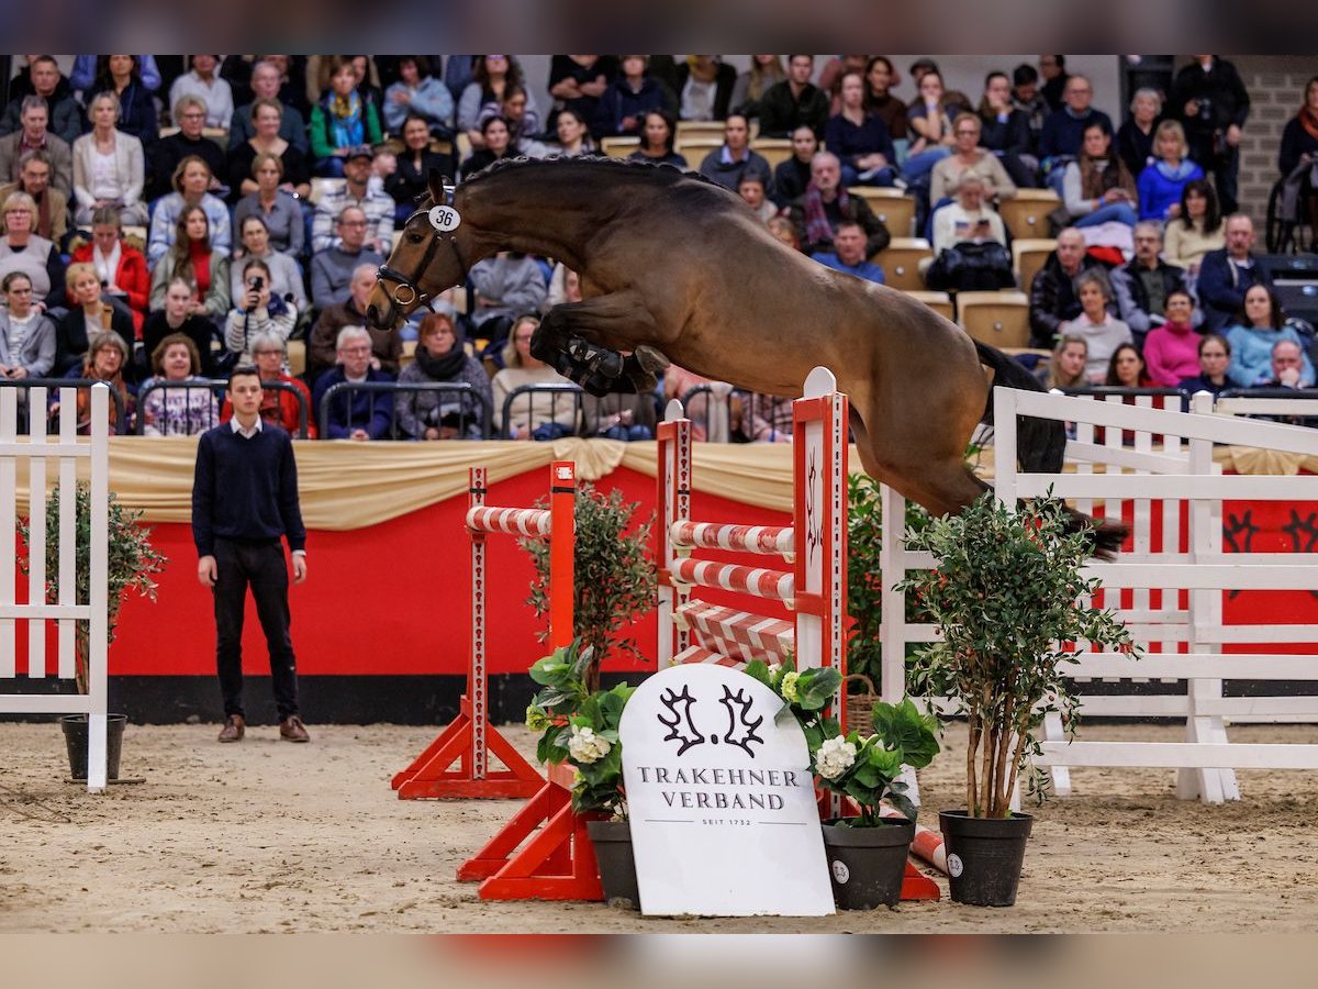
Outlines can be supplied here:
M74 534L76 541L76 564L74 567L75 600L91 600L91 488L79 483L74 489ZM59 593L59 497L61 488L55 485L46 502L46 601L54 604ZM144 597L156 600L156 575L165 570L169 562L152 546L152 530L138 525L141 512L124 508L109 494L107 509L107 588L105 588L105 633L109 642L115 641L119 625L119 609L124 595L134 591ZM24 549L30 553L32 530L29 520L18 524ZM26 572L28 560L22 560ZM74 626L74 682L79 694L87 692L87 661L91 649L90 626L78 621ZM109 779L119 778L119 754L123 745L125 715L107 717L105 761ZM87 778L87 716L65 715L59 719L69 749L69 769L74 779Z

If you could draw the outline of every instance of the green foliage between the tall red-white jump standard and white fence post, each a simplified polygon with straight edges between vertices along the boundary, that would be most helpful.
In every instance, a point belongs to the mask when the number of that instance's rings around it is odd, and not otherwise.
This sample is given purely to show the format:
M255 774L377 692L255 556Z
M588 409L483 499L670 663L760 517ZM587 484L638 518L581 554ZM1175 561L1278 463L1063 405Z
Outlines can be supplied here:
M883 512L879 481L869 475L853 473L847 479L847 502L846 607L854 636L846 646L846 670L865 674L879 683L883 678L883 650L879 645L879 625L883 620L883 578L879 572ZM908 501L905 529L920 530L928 524L929 514Z

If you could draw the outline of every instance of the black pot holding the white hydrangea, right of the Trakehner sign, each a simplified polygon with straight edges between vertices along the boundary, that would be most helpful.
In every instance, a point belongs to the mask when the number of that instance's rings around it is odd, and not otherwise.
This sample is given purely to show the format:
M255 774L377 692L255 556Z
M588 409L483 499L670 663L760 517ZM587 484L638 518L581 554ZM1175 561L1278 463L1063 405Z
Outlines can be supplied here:
M896 906L902 899L907 852L915 824L887 818L875 828L853 828L825 822L824 853L833 881L833 902L840 910Z

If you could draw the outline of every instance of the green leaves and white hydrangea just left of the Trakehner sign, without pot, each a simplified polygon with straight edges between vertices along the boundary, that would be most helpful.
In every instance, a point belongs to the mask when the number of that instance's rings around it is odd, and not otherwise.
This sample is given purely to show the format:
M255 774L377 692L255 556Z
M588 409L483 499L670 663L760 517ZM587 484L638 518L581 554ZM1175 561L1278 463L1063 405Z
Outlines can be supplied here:
M627 796L622 785L618 725L635 688L619 683L613 690L592 691L587 687L587 674L592 669L598 669L594 651L581 640L536 661L531 679L542 690L526 709L526 725L540 733L535 746L540 761L576 767L573 810L625 819Z

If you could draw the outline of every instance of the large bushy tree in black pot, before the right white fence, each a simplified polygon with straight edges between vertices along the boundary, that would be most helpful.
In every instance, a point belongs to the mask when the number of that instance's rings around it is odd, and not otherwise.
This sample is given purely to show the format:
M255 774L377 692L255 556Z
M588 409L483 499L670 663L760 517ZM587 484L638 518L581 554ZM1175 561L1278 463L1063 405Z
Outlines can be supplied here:
M913 549L938 560L899 584L913 591L942 632L912 667L912 692L946 696L965 715L966 810L938 815L948 851L954 901L1011 906L1033 818L1012 814L1017 778L1046 796L1048 777L1033 765L1033 732L1057 712L1074 732L1079 700L1064 679L1064 649L1085 640L1133 650L1111 612L1082 607L1098 578L1082 567L1093 554L1091 534L1068 533L1065 505L1052 497L1020 509L985 494L958 516L933 520L908 533Z

